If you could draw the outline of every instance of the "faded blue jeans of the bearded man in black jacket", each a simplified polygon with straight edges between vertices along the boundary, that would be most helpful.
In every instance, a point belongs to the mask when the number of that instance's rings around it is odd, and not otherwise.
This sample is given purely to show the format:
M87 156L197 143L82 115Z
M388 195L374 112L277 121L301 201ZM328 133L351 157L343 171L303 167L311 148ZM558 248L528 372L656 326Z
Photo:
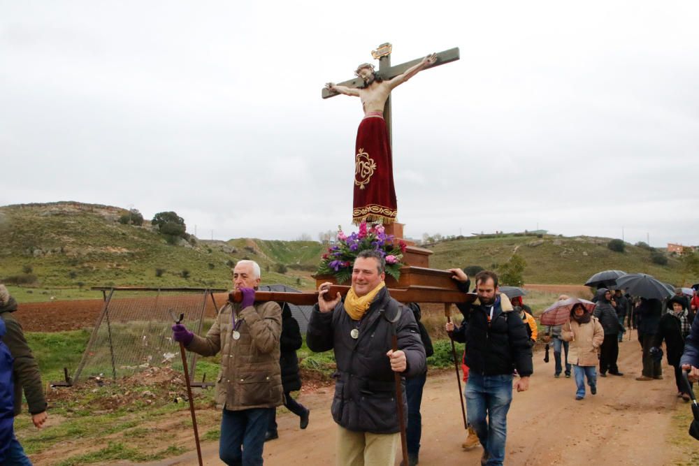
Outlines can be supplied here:
M468 423L490 455L486 464L502 465L505 461L507 412L512 402L512 374L470 372L465 392Z

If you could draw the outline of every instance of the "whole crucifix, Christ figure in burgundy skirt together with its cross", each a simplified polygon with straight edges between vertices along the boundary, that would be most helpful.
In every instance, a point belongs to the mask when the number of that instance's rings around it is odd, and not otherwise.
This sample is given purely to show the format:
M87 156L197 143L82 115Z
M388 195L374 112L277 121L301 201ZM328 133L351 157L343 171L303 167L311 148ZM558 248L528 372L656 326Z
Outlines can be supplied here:
M397 66L391 66L391 44L382 44L371 54L379 60L379 71L372 64L361 64L354 71L356 78L338 85L327 83L322 96L359 97L364 111L354 147L352 222L391 224L398 215L391 160L391 91L425 68L458 60L459 48Z

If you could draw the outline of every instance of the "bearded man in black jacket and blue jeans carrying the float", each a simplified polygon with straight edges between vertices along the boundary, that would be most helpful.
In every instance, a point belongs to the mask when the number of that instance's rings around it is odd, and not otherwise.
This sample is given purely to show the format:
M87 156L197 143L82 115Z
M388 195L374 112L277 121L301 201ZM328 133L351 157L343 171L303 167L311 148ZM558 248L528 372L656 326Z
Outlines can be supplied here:
M457 286L468 293L470 280L460 268L449 269ZM498 275L489 270L475 277L477 300L459 304L466 327L466 412L481 445L481 465L502 465L507 439L507 412L512 402L512 372L517 391L529 388L533 372L531 346L519 314L498 292ZM489 422L487 421L489 418Z

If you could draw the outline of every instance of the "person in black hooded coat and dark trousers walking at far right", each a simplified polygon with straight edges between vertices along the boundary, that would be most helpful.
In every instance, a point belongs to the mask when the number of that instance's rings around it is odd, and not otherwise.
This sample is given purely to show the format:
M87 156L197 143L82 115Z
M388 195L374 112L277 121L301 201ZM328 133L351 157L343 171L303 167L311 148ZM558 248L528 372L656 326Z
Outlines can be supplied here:
M654 349L656 351L665 340L665 347L668 350L668 364L675 367L675 384L677 384L677 396L682 397L682 400L689 401L689 393L682 381L682 368L679 367L679 358L682 357L684 351L684 340L689 335L692 320L684 307L684 300L673 296L668 300L668 309L670 312L661 317L658 323L658 333L654 341ZM652 351L652 352L656 352Z

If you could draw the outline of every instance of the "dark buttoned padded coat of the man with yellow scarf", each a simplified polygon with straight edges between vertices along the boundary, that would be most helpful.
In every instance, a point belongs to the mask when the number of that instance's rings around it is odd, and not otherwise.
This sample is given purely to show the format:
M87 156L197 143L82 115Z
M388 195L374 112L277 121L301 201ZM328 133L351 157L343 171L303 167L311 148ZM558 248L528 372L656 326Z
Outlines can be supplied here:
M349 332L356 328L340 302L332 312L319 312L315 305L308 322L306 343L311 351L335 351L337 372L331 413L347 430L389 434L400 430L396 412L396 384L386 353L391 349L391 326L396 325L398 349L405 352L408 368L403 377L415 377L426 370L425 349L412 312L382 289L359 322L359 338ZM385 315L384 315L385 314ZM401 390L404 412L405 380Z

